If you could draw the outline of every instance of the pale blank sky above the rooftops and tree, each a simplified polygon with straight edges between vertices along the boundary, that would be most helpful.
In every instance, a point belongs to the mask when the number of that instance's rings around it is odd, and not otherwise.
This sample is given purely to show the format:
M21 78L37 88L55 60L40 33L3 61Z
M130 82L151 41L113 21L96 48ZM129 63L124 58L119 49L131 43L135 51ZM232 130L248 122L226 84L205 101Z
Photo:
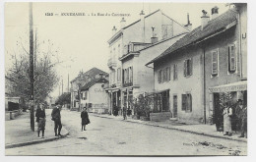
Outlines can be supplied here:
M121 16L126 25L140 19L140 12L146 15L160 9L165 15L185 25L187 13L193 28L200 26L202 10L211 14L211 9L218 6L219 14L228 10L225 3L33 3L33 28L37 30L38 39L50 40L58 49L59 58L63 61L56 67L63 80L63 91L67 91L69 81L75 79L80 71L87 72L98 68L108 72L107 59L109 49L107 40L111 37L113 26L120 29ZM14 12L15 11L15 12ZM45 16L53 13L53 16ZM61 13L85 13L87 16L60 16ZM97 16L110 14L110 16ZM55 14L58 14L56 16ZM92 16L95 15L96 16ZM88 16L90 15L90 16ZM5 66L10 65L10 55L6 51L17 48L17 40L22 37L29 42L29 3L5 4ZM29 49L29 43L25 44ZM59 86L51 93L58 96Z

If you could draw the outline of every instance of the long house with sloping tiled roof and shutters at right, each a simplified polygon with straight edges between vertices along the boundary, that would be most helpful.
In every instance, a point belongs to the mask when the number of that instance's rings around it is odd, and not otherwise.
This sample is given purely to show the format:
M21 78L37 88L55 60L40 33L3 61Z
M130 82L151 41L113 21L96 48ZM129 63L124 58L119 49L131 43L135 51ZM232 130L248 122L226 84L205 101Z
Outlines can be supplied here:
M155 89L162 96L157 108L172 118L207 123L221 116L220 92L232 92L233 103L246 100L246 81L241 80L247 76L247 10L246 4L235 6L221 16L213 8L211 20L204 11L200 27L147 64L154 63Z

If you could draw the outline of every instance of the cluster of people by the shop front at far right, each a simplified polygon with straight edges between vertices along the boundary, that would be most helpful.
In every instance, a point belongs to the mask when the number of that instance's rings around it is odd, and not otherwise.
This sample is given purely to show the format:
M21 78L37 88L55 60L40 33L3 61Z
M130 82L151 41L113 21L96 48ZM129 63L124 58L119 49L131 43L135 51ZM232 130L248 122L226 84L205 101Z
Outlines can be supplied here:
M247 137L247 107L242 100L238 99L235 109L228 106L224 107L224 135L232 135L232 121L235 121L235 129L241 131L239 137Z

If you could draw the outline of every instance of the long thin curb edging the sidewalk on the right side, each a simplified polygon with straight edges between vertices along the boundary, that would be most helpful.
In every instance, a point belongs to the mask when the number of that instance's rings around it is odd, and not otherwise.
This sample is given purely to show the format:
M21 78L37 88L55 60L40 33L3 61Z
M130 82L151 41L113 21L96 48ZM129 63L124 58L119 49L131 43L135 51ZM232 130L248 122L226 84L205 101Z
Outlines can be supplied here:
M112 119L112 118L109 118L109 117L103 117L103 116L96 115L96 114L92 114L92 115L94 115L96 117L99 117L99 118ZM154 124L149 124L149 123L140 123L140 122L136 122L136 121L127 121L126 120L124 122L137 123L137 124L153 126L153 127L160 127L160 128L163 128L163 129L175 130L175 131L180 131L180 132L185 132L185 133L190 133L190 134L195 134L195 135L206 135L206 136L210 136L210 137L219 137L219 138L224 138L224 139L229 139L229 140L236 140L236 141L247 142L247 140L243 140L242 138L241 139L239 139L239 138L236 139L236 138L231 138L231 137L228 137L228 136L220 136L220 135L211 135L211 134L205 134L205 133L197 133L197 132L183 130L183 129L178 129L178 128L165 127L165 126L154 125Z

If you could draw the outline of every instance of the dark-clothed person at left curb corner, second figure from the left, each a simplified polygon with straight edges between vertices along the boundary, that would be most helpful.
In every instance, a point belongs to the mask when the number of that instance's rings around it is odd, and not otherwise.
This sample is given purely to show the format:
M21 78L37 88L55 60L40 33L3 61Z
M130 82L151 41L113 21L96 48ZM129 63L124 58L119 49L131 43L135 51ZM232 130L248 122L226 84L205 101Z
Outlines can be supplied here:
M57 105L56 107L53 108L51 112L51 119L54 121L55 136L58 136L58 135L61 136L60 131L62 128L62 124L61 124L61 116L60 116L60 105ZM57 134L57 130L58 130L58 134Z

